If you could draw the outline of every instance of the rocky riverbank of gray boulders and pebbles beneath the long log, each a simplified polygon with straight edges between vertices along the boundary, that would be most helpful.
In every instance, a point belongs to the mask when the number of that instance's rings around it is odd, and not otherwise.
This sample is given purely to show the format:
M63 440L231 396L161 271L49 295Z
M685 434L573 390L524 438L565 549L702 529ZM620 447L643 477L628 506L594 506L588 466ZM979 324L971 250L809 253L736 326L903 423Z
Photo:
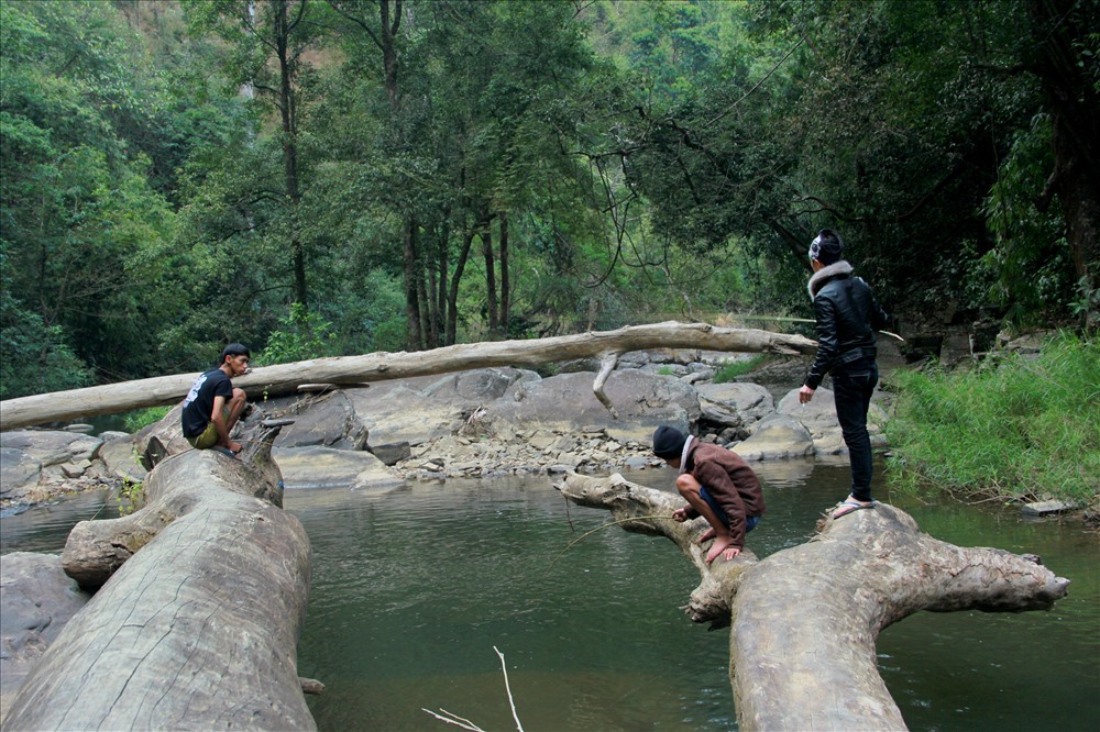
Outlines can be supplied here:
M294 420L273 451L288 488L646 468L661 464L650 439L663 423L749 461L844 452L832 392L821 389L811 404L798 403L805 358L772 358L741 380L714 382L725 364L746 358L697 351L627 354L605 387L617 418L592 391L598 365L574 363L546 377L483 368L283 398L254 404L246 421ZM755 382L758 376L769 386ZM878 444L886 412L872 407ZM178 421L173 410L133 435L90 435L80 426L2 433L0 509L140 483L151 450L189 450ZM154 432L161 440L151 445Z

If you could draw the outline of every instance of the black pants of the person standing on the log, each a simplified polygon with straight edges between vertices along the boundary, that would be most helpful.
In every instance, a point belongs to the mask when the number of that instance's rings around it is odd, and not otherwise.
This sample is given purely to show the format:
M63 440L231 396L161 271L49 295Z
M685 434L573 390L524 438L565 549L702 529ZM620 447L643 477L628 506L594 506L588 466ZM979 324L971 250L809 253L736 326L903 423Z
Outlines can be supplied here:
M871 500L871 436L867 433L867 410L871 392L879 382L879 368L872 359L857 361L833 371L833 398L840 422L844 444L851 465L851 497Z

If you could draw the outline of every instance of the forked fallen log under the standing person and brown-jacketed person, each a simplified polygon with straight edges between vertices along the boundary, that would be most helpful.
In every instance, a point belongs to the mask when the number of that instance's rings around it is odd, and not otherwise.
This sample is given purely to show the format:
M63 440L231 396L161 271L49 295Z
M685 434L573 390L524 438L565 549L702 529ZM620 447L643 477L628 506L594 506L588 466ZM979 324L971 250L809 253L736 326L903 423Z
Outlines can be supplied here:
M617 520L663 515L682 504L618 475L569 474L558 488ZM884 628L919 610L1047 610L1069 586L1038 557L937 541L884 503L843 521L827 518L810 542L761 562L746 552L706 565L693 543L704 524L660 518L623 528L668 536L700 569L688 612L700 622L732 624L729 676L745 732L904 730L876 664L875 642Z

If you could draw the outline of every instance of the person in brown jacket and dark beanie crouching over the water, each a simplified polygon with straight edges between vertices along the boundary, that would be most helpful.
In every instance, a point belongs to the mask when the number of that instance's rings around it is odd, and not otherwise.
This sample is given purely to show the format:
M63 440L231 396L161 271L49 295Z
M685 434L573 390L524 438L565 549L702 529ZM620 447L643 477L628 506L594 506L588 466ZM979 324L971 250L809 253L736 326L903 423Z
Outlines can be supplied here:
M673 511L672 518L683 522L702 515L711 524L698 537L700 543L714 539L706 561L721 554L728 562L740 554L745 534L765 512L760 478L748 463L735 452L700 442L668 424L653 433L653 454L680 470L676 490L688 506Z

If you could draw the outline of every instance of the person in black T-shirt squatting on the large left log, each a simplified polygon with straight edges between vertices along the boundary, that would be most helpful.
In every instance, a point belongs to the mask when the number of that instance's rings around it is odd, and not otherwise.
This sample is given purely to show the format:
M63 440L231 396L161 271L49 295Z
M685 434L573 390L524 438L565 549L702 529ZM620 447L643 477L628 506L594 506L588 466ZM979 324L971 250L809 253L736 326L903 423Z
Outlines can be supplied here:
M191 447L241 452L241 443L230 440L229 433L244 412L248 397L244 389L233 387L232 378L249 370L251 357L243 345L230 343L222 348L218 367L195 379L180 413L184 437Z

